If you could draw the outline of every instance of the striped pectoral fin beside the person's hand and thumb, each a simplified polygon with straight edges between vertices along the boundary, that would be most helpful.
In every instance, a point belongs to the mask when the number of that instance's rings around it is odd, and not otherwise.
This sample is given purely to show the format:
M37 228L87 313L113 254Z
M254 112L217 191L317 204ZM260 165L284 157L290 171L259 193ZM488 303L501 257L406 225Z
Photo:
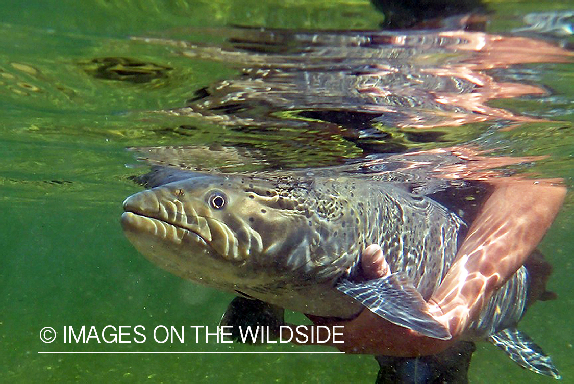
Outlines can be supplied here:
M448 340L451 333L428 312L428 305L405 273L355 283L343 280L336 288L383 319L430 338Z

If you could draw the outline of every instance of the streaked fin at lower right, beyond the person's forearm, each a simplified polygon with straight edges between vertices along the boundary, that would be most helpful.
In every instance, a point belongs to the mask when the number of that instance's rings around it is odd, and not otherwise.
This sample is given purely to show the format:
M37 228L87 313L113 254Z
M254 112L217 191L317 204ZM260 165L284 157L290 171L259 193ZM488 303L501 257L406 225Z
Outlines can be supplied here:
M541 375L561 378L550 356L546 355L526 333L516 328L506 328L488 336L488 341L505 351L519 366Z

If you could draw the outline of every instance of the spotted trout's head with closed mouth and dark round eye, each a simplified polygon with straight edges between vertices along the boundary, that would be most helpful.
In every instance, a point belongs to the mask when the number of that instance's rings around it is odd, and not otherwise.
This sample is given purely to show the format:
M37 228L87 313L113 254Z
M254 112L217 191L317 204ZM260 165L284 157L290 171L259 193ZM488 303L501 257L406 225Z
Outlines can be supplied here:
M198 174L128 197L122 226L140 253L188 280L228 288L293 279L320 254L307 195L273 179Z

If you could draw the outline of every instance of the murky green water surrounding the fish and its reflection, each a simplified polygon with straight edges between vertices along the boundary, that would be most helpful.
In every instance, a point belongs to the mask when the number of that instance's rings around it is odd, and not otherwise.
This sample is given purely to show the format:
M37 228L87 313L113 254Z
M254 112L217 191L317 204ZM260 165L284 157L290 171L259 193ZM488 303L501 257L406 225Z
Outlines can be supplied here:
M522 15L548 11L547 2L502 2L489 32L521 25ZM552 9L574 9L567 1ZM255 134L231 133L193 121L192 134L175 127L188 119L154 113L183 106L193 91L238 73L232 65L193 60L161 45L129 36L189 37L217 43L202 28L254 25L282 28L377 28L381 15L364 1L4 1L0 4L0 382L256 382L372 383L371 356L346 355L44 355L38 351L323 351L290 345L247 347L150 340L157 325L215 326L231 296L170 276L141 257L123 237L121 203L139 190L128 177L138 168L129 146L209 145L235 141L262 144ZM572 37L569 42L572 44ZM137 57L169 69L148 83L88 76L95 57ZM533 172L574 179L574 65L548 64L538 79L553 98L499 100L515 112L534 110L553 123L525 124L489 139L504 154L544 154ZM460 127L464 130L465 127ZM470 128L469 128L470 129ZM474 129L474 128L473 128ZM238 136L239 135L239 136ZM281 135L274 133L274 135ZM461 137L468 138L461 134ZM282 139L269 148L287 151ZM325 145L328 145L325 144ZM321 150L323 146L319 147ZM349 143L324 154L298 149L292 165L328 164L359 156ZM279 155L278 155L279 156ZM126 166L128 165L128 166ZM135 167L135 168L134 168ZM574 381L574 200L567 197L540 248L553 263L550 289L559 299L538 303L521 322ZM290 314L290 320L302 317ZM64 326L143 325L145 343L64 343ZM56 341L38 337L53 327ZM187 332L187 331L186 331ZM189 333L188 333L189 335ZM127 339L131 340L133 333ZM472 383L546 383L502 352L478 344Z

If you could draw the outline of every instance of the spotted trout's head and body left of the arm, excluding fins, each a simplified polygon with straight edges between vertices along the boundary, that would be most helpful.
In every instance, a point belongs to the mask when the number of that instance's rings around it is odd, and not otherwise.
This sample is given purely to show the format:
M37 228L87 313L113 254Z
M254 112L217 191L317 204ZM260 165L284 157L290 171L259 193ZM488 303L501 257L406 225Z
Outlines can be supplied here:
M185 177L125 200L137 249L177 276L311 315L360 311L335 285L360 280L372 243L429 298L466 228L436 201L372 177Z

